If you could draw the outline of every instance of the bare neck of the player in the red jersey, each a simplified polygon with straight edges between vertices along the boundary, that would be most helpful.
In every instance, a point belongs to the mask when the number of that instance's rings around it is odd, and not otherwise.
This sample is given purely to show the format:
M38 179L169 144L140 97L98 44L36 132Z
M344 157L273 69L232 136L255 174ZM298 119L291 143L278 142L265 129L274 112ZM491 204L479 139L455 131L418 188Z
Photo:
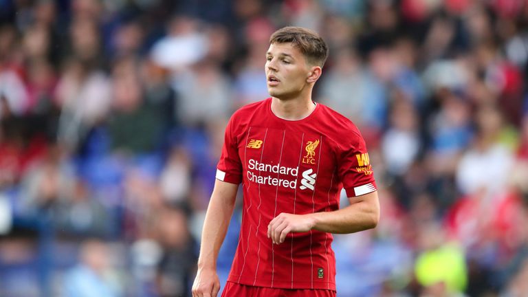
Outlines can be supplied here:
M315 108L316 104L309 97L289 100L272 98L272 112L284 120L303 120Z

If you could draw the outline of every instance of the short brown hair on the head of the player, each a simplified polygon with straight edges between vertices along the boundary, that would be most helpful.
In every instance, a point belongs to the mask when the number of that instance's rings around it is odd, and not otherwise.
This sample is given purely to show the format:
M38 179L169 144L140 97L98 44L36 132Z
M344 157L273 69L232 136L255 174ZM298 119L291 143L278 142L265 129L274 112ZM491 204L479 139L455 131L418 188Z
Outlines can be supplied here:
M327 43L316 32L301 27L285 27L276 30L270 37L271 43L292 43L305 55L307 61L322 67L328 57Z

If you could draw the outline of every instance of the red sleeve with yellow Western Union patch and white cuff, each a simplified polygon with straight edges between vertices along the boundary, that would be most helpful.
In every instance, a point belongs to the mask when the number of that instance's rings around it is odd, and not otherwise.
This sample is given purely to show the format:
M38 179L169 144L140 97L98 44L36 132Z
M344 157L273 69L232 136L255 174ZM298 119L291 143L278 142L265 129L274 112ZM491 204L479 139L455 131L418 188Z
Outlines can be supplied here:
M377 186L363 137L352 131L350 137L338 151L338 175L347 197L356 197L374 192Z

